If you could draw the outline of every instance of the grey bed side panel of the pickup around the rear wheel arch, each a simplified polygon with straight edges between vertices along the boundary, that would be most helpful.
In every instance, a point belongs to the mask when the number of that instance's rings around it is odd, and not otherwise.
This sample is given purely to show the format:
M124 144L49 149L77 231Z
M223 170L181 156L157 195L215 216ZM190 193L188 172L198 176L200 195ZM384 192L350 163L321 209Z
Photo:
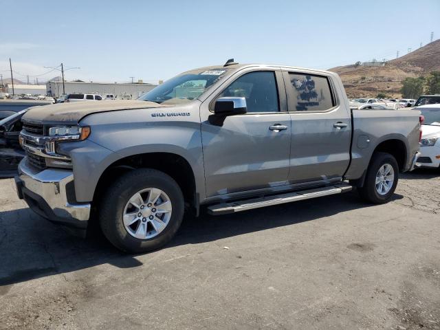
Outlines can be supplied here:
M419 150L419 111L362 109L353 110L352 113L352 159L345 178L362 177L375 148L386 140L404 142L406 146L404 170L408 170L412 156Z

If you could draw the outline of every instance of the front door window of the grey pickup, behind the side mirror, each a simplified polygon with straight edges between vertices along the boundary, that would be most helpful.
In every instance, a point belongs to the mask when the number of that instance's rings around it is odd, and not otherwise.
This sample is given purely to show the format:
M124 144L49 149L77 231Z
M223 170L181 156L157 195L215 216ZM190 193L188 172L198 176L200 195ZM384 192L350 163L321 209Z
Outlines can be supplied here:
M276 78L272 71L243 74L229 85L219 97L225 96L245 98L248 112L280 111Z

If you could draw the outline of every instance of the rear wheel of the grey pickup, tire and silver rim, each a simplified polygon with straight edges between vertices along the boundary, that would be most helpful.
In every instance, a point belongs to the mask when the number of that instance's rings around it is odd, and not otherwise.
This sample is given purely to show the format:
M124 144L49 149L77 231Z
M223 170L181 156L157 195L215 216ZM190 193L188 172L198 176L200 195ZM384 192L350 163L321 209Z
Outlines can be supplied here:
M379 173L379 170L383 168L386 168L386 170L389 169L386 165L391 166L393 171L392 184L386 181L386 179L390 179L389 175L383 176ZM391 170L389 173L391 173ZM380 177L377 178L377 175ZM384 182L384 185L378 184L377 186L376 179ZM399 181L399 166L397 165L395 157L389 153L374 153L366 172L364 186L358 188L358 190L362 199L366 201L375 204L386 203L391 199L391 196L393 196L397 181ZM381 192L379 190L381 190Z

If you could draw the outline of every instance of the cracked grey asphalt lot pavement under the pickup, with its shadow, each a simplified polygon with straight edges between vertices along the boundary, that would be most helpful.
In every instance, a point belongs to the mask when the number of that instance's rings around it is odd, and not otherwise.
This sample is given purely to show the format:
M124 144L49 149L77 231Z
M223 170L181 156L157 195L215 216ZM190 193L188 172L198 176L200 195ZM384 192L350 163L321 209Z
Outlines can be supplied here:
M0 329L440 329L440 173L388 204L355 192L185 219L121 254L26 208L0 181Z

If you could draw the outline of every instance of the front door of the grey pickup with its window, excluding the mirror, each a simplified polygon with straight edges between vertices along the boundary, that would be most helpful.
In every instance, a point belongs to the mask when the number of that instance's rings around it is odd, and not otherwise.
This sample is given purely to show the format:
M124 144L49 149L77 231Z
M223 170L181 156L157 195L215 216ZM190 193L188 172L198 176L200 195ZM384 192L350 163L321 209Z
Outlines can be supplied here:
M290 115L281 72L243 72L216 97L244 97L247 113L208 122L210 100L201 105L201 137L206 195L230 194L287 184ZM214 101L215 101L214 99ZM278 128L278 129L277 129Z

